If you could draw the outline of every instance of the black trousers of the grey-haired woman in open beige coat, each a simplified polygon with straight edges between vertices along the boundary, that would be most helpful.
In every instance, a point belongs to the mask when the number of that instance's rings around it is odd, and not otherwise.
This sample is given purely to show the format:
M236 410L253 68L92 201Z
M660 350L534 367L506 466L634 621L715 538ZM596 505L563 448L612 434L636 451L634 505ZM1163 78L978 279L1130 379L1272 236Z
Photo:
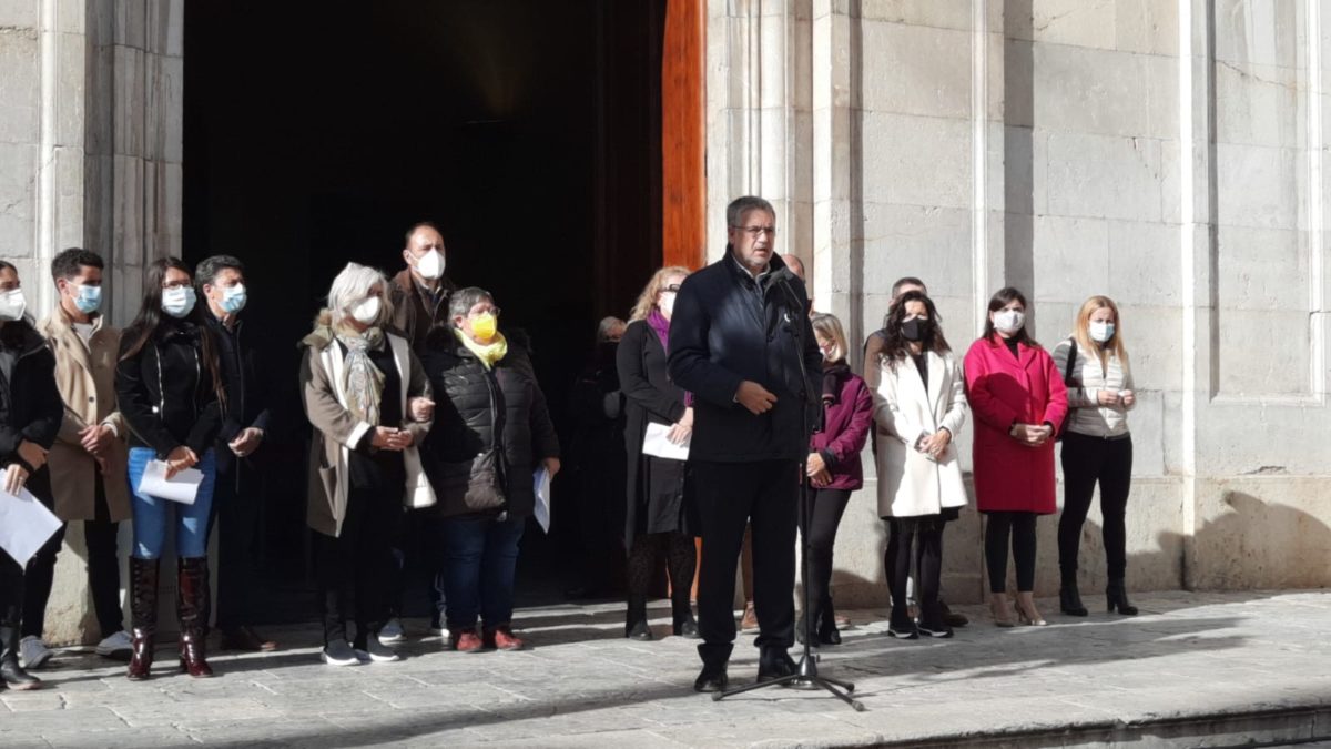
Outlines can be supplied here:
M349 640L363 648L366 636L387 621L401 497L401 490L351 489L342 534L315 534L325 645ZM355 622L354 640L347 638L347 621Z

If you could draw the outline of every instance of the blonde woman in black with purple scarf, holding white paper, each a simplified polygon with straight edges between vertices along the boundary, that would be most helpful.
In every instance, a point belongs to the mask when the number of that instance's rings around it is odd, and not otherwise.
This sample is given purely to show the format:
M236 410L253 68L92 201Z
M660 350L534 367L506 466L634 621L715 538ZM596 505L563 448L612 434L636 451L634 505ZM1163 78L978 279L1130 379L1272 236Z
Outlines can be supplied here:
M628 493L624 548L628 552L628 613L624 636L651 640L647 596L662 557L671 581L673 632L697 638L689 605L697 552L684 513L684 460L693 432L693 409L666 372L675 295L688 277L679 267L662 268L647 281L619 341L616 364L624 393L624 452ZM677 449L671 449L677 448Z

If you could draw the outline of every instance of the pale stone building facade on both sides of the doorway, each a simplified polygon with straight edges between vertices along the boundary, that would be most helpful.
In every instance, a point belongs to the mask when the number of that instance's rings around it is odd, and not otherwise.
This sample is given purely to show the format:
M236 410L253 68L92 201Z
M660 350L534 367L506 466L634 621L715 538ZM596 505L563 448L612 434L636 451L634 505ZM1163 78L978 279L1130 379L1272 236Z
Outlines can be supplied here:
M121 324L145 260L180 253L182 11L0 0L0 256L33 309L59 248L108 256ZM1141 394L1129 584L1324 585L1328 16L1328 0L711 0L707 225L719 236L737 195L772 199L817 308L856 339L905 275L958 348L1000 287L1028 293L1049 344L1107 293ZM886 596L873 490L843 521L843 605ZM973 512L948 532L954 601L982 596L980 541ZM1094 510L1085 544L1093 589ZM77 553L59 574L53 606L87 613ZM53 610L51 638L77 618Z

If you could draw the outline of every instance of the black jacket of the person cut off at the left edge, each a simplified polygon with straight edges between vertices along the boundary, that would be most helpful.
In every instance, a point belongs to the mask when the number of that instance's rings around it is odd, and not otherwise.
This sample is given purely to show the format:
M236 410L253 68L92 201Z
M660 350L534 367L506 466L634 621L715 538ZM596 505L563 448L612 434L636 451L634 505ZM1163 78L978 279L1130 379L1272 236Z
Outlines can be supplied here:
M19 328L12 328L12 327ZM51 449L60 432L65 404L56 389L56 355L27 321L0 327L0 465L21 464L24 441ZM29 478L28 489L49 501L45 469Z

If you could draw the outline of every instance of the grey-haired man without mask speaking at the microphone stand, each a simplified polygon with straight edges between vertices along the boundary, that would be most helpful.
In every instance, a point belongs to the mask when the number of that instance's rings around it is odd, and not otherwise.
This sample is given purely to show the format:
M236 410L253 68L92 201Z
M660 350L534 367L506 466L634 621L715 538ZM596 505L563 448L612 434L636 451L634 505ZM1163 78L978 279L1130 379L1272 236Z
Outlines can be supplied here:
M753 530L759 681L795 672L795 528L800 461L820 409L823 356L804 283L773 252L761 197L725 209L725 256L684 281L671 317L669 374L693 393L689 468L703 532L699 692L727 686L735 565Z

